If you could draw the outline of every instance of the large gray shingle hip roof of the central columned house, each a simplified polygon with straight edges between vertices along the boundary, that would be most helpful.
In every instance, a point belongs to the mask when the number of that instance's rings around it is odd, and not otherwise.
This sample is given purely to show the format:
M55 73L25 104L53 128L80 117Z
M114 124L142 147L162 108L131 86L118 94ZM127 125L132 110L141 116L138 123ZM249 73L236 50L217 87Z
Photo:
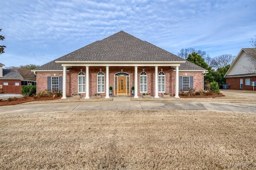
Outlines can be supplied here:
M60 63L55 61L185 61L160 47L142 41L124 31L120 31L101 41L96 41L85 47L77 49L54 61L46 63L34 70L62 70ZM186 62L187 63L187 62ZM200 69L194 65L186 64L182 68ZM183 65L183 64L182 64ZM186 67L188 66L188 67Z

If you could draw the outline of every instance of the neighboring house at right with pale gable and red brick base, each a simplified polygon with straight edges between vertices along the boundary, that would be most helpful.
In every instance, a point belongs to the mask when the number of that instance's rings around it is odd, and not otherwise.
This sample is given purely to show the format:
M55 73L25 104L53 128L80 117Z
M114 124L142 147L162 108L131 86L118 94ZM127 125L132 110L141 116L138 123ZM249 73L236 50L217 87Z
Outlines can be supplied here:
M224 78L229 89L253 90L251 82L256 81L256 48L242 48Z

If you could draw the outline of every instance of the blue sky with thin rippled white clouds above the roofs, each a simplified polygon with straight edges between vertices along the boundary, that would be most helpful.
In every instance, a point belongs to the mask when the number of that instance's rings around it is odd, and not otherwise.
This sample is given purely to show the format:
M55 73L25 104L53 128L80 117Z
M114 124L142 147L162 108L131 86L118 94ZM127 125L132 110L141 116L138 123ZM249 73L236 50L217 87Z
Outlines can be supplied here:
M1 0L8 66L43 65L123 30L171 53L237 55L256 38L255 0Z

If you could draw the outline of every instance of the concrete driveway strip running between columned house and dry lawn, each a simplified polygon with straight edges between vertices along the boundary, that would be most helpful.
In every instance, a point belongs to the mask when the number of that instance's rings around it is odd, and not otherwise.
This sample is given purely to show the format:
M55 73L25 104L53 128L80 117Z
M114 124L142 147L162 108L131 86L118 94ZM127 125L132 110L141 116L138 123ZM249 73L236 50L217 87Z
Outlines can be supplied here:
M78 101L69 103L42 103L1 106L0 115L95 110L200 110L256 113L256 104L206 101L132 101L129 97L116 97L113 99L113 101Z

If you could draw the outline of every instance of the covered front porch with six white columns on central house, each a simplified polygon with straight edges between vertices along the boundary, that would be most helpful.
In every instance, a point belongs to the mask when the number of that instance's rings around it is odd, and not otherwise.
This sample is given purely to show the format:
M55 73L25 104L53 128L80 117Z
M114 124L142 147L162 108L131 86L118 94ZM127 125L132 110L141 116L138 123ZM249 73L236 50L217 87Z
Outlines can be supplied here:
M67 93L68 96L71 93L79 93L70 89L78 87L74 82L77 81L75 77L80 71L85 74L85 99L99 92L99 87L104 89L102 95L106 99L110 98L110 86L113 88L113 96L132 96L131 90L134 87L134 98L138 98L142 93L150 93L154 98L159 98L161 93L170 92L175 93L174 97L179 97L180 63L60 63L63 67L62 99L67 99ZM73 69L76 71L72 71ZM104 79L102 84L98 84L99 74ZM68 82L67 76L70 76Z

